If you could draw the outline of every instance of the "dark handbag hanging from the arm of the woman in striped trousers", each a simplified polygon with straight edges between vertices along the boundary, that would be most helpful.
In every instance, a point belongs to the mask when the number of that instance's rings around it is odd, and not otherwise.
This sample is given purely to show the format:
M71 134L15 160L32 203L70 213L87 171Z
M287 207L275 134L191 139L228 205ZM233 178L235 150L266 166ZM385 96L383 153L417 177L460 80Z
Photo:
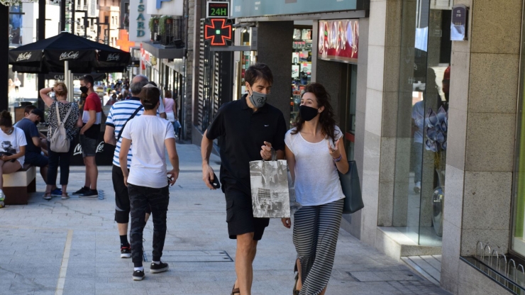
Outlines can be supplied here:
M338 173L341 189L343 189L343 194L345 195L343 214L360 211L365 207L365 204L363 204L363 196L361 195L358 166L355 164L355 161L348 161L348 172L346 174Z

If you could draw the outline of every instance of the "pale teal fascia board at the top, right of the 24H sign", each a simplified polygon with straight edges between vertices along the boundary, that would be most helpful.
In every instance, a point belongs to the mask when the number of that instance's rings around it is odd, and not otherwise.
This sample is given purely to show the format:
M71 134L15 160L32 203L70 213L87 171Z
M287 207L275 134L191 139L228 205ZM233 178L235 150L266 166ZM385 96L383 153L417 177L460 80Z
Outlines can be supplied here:
M348 11L368 7L370 0L231 0L231 18Z

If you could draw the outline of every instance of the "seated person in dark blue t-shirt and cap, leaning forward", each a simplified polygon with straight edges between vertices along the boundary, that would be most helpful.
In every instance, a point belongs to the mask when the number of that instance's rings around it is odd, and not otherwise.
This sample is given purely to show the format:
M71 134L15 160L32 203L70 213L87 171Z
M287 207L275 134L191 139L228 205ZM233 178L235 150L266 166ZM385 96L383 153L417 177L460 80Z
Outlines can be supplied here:
M31 105L24 108L24 118L18 121L15 126L23 130L23 134L26 136L26 159L24 162L40 167L40 175L42 175L42 179L47 184L49 160L48 157L42 155L42 147L47 148L48 145L45 137L40 137L40 132L38 132L36 127L40 122L45 122L44 112L40 108ZM52 192L55 194L60 193L59 196L62 195L62 191L56 190L56 186L55 191Z

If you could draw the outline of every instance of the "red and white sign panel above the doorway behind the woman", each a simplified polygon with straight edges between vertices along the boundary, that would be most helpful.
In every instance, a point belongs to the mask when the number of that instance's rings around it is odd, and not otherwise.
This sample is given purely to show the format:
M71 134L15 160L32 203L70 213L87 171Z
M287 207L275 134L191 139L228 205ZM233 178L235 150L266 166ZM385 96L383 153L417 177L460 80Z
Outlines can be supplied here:
M356 64L358 48L358 20L319 21L319 59Z

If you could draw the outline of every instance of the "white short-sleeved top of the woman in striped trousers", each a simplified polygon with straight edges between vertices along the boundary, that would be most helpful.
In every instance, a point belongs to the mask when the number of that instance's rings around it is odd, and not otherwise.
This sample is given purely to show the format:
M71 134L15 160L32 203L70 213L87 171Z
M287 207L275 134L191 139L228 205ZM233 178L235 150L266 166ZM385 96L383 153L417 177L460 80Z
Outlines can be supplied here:
M343 136L337 126L336 140ZM294 129L292 129L294 130ZM319 206L344 199L337 167L328 153L327 139L309 143L301 133L288 130L284 143L295 156L295 196L302 206ZM328 140L332 147L332 140Z

